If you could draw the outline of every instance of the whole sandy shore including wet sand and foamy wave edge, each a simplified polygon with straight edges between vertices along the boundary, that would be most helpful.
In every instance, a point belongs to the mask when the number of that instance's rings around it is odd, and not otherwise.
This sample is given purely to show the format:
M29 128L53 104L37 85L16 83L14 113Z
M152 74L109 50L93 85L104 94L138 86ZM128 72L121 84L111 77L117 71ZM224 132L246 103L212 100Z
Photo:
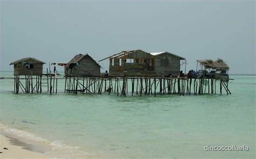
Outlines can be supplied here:
M29 135L31 134L23 130L0 123L0 158L102 158L98 155L70 151L69 146L52 146L51 142L45 139L35 140L37 136L32 140L28 138Z

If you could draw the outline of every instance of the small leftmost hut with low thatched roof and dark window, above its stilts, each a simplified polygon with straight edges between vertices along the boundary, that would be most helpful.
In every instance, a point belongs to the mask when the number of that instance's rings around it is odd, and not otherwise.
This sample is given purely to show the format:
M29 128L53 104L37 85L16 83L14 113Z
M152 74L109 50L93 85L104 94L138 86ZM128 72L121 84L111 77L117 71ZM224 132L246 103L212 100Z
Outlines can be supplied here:
M45 63L35 58L22 58L10 63L14 65L14 75L42 75Z

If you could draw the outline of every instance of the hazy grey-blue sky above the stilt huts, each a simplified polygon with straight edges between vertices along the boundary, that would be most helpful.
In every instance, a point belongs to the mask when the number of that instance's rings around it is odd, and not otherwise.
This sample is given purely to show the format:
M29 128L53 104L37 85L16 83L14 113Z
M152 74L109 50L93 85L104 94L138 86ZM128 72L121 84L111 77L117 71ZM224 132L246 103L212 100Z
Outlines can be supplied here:
M187 70L223 58L230 73L255 74L255 1L1 1L2 71L23 57L98 61L135 49L178 54Z

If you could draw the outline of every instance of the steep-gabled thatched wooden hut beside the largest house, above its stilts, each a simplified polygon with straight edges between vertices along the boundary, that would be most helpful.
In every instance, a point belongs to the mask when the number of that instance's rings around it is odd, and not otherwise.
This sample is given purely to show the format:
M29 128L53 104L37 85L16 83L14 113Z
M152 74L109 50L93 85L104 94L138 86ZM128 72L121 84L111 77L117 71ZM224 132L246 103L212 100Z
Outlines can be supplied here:
M89 54L77 54L65 66L66 77L99 77L100 65Z

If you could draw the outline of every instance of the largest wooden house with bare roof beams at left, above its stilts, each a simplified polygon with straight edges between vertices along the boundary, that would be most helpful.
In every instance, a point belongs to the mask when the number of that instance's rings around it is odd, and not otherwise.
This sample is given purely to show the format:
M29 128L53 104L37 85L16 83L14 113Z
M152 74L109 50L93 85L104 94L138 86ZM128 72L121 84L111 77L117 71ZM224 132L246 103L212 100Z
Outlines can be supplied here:
M112 77L177 76L180 60L185 60L169 52L147 53L142 50L122 51L105 59L108 58Z

